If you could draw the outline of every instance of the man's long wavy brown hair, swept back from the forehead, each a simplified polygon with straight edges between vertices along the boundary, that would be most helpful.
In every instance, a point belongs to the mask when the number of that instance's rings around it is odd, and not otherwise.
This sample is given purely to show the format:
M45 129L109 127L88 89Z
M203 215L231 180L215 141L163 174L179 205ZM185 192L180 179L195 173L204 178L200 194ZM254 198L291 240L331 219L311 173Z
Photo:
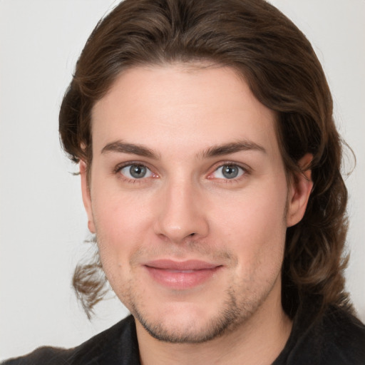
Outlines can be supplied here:
M314 188L304 218L287 230L282 304L293 317L312 301L350 308L343 257L347 192L341 140L322 66L299 29L263 0L125 0L98 23L63 98L59 130L74 162L91 165L91 110L115 78L140 64L211 61L235 68L256 98L278 115L287 172L306 153ZM105 293L98 256L78 266L73 285L88 315Z

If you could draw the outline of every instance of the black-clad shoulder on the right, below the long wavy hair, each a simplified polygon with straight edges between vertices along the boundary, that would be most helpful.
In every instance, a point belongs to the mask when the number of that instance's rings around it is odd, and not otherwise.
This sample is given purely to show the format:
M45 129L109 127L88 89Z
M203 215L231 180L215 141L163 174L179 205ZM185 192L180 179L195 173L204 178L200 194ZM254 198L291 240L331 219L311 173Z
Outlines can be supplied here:
M274 364L364 365L365 326L339 307L312 323L304 314L294 321L285 350Z

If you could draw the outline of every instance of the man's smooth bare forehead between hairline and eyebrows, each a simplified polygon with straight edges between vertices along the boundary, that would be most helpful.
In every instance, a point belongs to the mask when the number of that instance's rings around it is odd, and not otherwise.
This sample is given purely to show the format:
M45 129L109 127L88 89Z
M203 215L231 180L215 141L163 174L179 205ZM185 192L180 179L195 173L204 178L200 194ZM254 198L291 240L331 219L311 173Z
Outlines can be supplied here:
M232 68L173 64L130 68L92 113L93 149L113 140L168 150L252 140L277 148L275 113Z

